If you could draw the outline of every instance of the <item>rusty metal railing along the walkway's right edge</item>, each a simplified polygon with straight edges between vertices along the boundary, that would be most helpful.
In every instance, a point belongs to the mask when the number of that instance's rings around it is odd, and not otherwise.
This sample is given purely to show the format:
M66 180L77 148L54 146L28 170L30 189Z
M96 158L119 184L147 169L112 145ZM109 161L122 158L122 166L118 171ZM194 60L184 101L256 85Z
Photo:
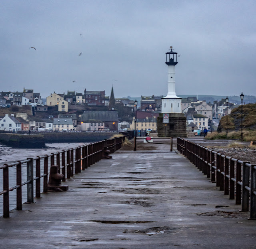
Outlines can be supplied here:
M256 219L256 164L225 156L200 144L177 138L177 149L216 186Z

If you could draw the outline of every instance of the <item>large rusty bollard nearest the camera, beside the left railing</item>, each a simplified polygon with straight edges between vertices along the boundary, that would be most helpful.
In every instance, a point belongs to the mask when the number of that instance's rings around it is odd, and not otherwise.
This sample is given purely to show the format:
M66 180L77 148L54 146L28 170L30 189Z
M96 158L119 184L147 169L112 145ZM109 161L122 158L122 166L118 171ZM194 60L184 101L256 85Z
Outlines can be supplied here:
M68 185L61 185L61 180L64 179L64 175L58 172L58 168L58 165L52 165L50 167L48 182L48 191L50 192L63 192L68 190Z

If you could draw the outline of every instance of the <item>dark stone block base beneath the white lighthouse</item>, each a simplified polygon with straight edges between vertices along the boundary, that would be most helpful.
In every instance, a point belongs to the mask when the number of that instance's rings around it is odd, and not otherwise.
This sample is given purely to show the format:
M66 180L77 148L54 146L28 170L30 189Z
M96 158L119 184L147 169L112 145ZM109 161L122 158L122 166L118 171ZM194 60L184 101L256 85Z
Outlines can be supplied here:
M169 113L169 124L163 123L163 113L157 118L158 137L187 137L186 117L183 113Z

